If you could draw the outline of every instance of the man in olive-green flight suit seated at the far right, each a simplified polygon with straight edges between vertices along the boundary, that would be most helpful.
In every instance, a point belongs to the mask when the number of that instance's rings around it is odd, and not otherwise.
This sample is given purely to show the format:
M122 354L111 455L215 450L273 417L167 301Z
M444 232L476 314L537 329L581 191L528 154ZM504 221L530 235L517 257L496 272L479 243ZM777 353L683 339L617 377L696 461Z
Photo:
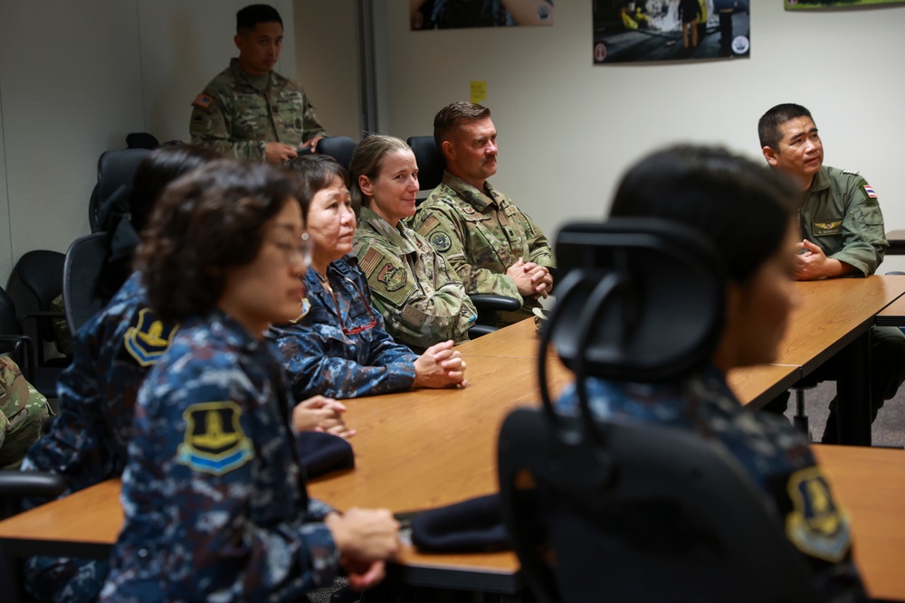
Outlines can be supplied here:
M866 277L883 261L889 243L877 193L857 172L824 165L824 146L811 113L795 104L776 105L757 124L760 146L770 167L800 184L798 227L801 242L797 280ZM836 367L818 376L834 379ZM871 328L871 419L905 381L905 335L894 326ZM784 412L788 392L768 405ZM836 444L835 400L824 429L824 444Z

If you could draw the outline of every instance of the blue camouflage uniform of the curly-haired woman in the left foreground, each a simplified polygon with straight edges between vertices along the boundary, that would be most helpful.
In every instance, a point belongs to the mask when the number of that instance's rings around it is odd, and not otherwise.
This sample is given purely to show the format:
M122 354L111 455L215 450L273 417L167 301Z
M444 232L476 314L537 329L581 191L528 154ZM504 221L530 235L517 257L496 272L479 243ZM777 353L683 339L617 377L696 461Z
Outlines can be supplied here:
M300 601L338 551L309 501L281 364L230 316L186 319L138 392L101 601Z

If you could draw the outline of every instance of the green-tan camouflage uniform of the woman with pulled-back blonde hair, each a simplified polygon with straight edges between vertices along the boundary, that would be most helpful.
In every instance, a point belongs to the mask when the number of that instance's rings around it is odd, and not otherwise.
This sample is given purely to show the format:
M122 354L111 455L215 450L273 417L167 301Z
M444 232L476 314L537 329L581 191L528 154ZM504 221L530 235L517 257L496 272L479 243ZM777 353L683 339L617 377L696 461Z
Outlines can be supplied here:
M362 207L353 251L397 342L424 351L448 339L468 341L477 311L456 272L424 237Z

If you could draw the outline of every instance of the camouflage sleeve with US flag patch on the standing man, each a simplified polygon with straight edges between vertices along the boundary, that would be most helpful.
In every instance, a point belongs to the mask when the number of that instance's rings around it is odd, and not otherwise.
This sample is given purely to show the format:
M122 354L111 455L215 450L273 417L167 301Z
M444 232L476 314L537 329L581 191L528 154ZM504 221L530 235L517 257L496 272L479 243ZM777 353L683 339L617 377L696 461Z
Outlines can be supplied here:
M223 90L205 88L192 103L189 133L192 144L224 157L263 161L265 140L233 140L233 99Z

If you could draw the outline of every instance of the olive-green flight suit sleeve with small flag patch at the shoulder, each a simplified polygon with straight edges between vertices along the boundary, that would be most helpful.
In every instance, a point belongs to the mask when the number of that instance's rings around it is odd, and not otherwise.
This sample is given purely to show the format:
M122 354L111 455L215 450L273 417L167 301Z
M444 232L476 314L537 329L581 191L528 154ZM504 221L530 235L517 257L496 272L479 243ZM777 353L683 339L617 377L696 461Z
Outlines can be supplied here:
M830 257L850 264L867 276L873 274L886 255L889 243L883 227L880 202L863 178L850 178L845 196L843 249Z

